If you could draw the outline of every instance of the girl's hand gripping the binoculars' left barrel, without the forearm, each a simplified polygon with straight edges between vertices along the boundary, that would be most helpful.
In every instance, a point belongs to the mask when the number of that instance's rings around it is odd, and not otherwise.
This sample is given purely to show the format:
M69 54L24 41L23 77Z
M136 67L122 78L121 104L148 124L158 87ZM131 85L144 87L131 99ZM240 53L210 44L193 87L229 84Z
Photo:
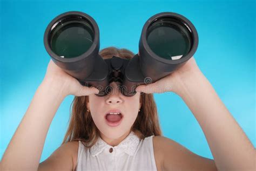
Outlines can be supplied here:
M43 82L50 83L50 86L56 91L61 91L64 97L70 94L80 97L99 93L96 87L82 86L76 78L62 70L52 59L49 61Z

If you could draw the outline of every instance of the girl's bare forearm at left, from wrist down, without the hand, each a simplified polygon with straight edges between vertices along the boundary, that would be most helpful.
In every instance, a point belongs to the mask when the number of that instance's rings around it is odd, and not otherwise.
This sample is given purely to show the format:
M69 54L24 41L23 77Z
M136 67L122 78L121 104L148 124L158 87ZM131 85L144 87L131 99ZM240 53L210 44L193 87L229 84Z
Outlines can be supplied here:
M46 134L63 98L50 83L38 87L3 155L3 168L37 170Z

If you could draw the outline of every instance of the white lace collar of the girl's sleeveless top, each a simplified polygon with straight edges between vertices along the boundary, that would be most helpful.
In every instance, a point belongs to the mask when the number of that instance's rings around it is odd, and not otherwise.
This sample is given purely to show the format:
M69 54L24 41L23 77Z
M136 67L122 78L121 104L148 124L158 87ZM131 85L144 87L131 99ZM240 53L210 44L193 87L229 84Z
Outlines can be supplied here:
M137 146L139 145L139 141L140 139L138 136L133 131L131 131L131 133L116 147L129 155L134 155ZM98 155L106 147L113 146L108 145L102 138L99 137L95 145L90 148L90 153L92 156Z

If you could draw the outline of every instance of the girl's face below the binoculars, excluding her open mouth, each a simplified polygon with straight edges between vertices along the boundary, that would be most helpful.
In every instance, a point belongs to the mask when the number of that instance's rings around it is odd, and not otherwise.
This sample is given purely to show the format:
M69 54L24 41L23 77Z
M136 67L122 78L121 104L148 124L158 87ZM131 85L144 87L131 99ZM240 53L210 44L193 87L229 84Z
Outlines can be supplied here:
M87 108L100 134L111 139L118 139L120 136L130 132L131 126L137 118L140 103L140 93L137 92L132 97L126 97L118 88L119 82L112 82L112 91L104 97L98 97L95 94L89 95ZM111 127L107 125L105 115L110 110L120 110L123 120L120 125Z

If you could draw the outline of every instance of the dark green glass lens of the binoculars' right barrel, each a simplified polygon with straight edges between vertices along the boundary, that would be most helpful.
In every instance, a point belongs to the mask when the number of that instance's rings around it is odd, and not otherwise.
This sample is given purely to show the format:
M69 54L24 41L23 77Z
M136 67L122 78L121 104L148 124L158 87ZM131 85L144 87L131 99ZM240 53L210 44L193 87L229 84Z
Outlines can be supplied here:
M176 60L191 49L191 32L176 18L158 18L146 33L147 44L159 57Z

